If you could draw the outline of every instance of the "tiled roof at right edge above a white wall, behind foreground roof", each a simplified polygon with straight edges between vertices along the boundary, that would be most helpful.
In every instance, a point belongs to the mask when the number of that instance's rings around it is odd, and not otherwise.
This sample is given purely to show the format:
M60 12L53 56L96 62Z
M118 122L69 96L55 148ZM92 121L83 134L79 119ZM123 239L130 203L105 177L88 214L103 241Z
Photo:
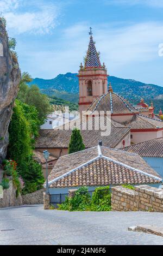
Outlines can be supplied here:
M122 150L139 154L141 157L163 157L163 137L124 147Z

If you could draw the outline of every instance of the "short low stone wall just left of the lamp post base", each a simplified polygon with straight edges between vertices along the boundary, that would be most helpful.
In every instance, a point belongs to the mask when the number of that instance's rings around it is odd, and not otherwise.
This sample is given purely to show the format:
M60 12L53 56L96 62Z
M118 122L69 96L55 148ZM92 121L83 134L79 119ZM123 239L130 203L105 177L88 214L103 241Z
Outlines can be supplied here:
M34 193L22 195L23 205L43 204L43 188Z

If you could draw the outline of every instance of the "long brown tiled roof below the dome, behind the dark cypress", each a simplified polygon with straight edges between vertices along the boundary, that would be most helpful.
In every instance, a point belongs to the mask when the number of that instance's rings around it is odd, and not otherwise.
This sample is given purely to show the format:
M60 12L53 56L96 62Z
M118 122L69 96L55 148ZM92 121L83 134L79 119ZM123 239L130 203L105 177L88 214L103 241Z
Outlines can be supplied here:
M94 124L92 130L89 130L89 124L91 120L85 122L86 130L81 129L81 134L83 136L83 142L86 148L90 148L98 145L98 141L102 140L104 146L116 147L125 138L130 129L123 124L116 123L111 120L111 133L107 136L102 136L104 131L103 127L99 130L95 130ZM78 120L72 121L71 129L74 126L78 126ZM70 123L66 124L65 127L69 126ZM60 127L61 128L61 127ZM35 148L68 148L70 142L72 130L61 130L61 129L49 129L40 130L39 137L36 138Z

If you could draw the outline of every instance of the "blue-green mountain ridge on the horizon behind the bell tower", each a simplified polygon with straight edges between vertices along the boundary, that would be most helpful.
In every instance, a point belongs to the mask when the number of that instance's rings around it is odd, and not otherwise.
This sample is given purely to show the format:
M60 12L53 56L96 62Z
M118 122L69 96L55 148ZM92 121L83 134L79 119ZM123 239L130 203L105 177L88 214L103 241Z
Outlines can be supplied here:
M108 76L108 84L111 82L114 92L120 94L132 104L140 102L144 98L147 104L153 101L155 111L163 110L163 86L154 84L145 84L134 79L117 78L116 76ZM61 99L78 103L79 82L77 73L59 74L53 79L35 78L29 83L39 86L42 93L48 96L55 96Z

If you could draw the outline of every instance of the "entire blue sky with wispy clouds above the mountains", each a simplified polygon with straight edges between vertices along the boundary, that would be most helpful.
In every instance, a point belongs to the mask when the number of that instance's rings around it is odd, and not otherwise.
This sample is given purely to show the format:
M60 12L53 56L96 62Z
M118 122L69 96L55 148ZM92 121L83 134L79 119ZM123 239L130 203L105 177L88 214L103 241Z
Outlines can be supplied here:
M163 86L163 0L0 0L22 72L78 72L89 27L108 74Z

